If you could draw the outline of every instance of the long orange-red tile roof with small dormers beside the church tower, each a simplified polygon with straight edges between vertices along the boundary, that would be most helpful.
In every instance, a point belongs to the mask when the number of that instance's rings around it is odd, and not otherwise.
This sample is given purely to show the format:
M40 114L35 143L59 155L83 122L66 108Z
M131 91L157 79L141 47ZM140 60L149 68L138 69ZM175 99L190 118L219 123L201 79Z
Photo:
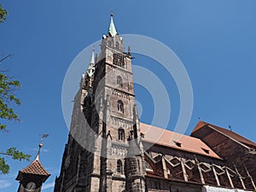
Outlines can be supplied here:
M183 134L164 130L147 124L140 124L141 132L144 134L143 141L155 143L169 148L176 148L183 151L188 151L194 154L201 154L212 158L220 159L218 154L215 154L211 148L195 137L185 136ZM178 147L180 143L181 147ZM208 152L208 153L207 153Z

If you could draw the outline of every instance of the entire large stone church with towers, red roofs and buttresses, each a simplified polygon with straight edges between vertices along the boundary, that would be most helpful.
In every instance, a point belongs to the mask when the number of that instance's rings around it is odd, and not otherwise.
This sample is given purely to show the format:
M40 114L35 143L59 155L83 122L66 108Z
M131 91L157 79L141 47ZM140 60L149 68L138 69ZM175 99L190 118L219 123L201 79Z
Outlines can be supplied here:
M256 143L203 121L191 136L140 122L131 60L111 15L74 99L54 192L255 190Z

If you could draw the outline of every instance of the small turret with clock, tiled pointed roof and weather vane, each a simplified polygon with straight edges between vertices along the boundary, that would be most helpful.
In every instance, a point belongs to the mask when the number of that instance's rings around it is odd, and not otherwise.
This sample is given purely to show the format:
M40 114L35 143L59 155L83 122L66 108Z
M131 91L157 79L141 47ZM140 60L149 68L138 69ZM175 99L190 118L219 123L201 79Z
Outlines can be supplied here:
M41 143L38 146L38 154L35 160L30 165L21 169L16 177L16 180L20 181L18 192L40 192L43 183L50 176L49 172L44 169L44 166L42 166L39 160L40 150L43 147L43 139L41 139Z

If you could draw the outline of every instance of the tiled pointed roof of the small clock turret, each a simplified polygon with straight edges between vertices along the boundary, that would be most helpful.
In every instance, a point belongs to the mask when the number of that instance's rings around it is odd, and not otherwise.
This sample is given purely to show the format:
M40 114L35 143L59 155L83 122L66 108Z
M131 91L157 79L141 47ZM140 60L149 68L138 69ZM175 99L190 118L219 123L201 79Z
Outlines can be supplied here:
M46 178L50 176L49 172L44 169L44 166L42 166L39 160L33 160L29 166L21 169L16 180L20 180L21 173L45 176Z

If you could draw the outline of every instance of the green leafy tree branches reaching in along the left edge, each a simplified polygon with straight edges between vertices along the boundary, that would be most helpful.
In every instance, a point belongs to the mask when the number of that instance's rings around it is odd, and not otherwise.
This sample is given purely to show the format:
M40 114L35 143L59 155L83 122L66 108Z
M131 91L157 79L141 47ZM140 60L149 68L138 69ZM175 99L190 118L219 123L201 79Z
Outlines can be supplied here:
M0 4L0 23L6 20L8 12L2 8ZM0 59L0 63L9 57L5 56ZM20 82L9 78L5 74L6 71L0 71L0 119L2 120L19 120L15 113L13 104L20 106L20 99L16 97L15 91L20 89ZM0 122L0 131L6 131L6 125ZM23 154L16 148L8 148L5 152L0 152L0 174L9 173L9 165L6 163L5 157L11 157L14 160L29 160L31 155ZM3 157L2 157L3 156Z

